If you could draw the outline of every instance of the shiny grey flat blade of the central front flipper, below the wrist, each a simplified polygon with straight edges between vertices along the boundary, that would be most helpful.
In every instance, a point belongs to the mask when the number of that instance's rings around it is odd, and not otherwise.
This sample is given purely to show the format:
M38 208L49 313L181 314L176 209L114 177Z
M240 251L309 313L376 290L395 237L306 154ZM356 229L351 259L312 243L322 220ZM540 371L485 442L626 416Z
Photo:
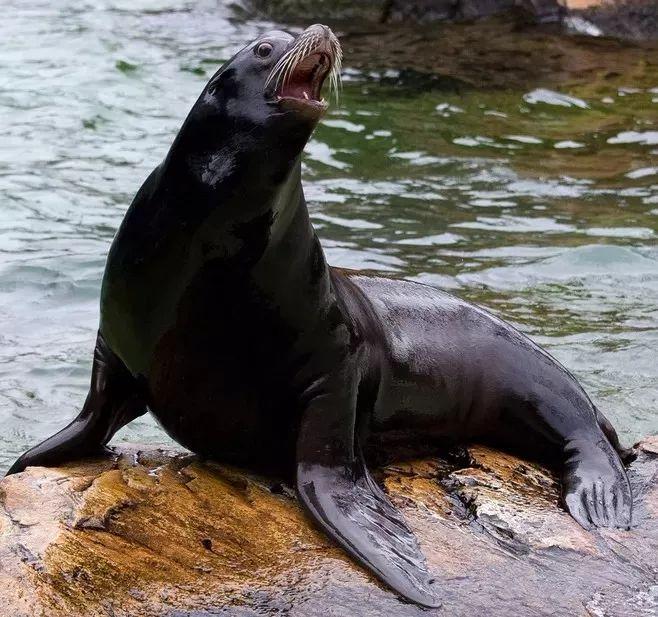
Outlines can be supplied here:
M416 537L361 456L348 466L298 461L297 490L325 533L378 579L412 602L441 606Z

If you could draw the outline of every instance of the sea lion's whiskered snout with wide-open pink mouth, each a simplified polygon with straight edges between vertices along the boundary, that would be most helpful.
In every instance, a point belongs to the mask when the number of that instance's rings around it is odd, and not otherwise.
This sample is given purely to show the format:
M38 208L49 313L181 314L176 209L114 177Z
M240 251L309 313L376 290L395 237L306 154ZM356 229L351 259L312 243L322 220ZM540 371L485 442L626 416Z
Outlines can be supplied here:
M336 35L322 24L302 32L272 68L266 88L285 107L320 115L327 103L322 86L327 77L338 92L342 51Z

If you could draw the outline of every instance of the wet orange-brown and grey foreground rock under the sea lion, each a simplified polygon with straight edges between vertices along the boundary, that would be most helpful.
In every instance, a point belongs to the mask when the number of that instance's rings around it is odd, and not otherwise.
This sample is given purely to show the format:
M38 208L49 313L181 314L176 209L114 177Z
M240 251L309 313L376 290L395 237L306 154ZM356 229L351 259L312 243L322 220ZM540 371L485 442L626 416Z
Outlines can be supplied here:
M442 581L401 602L309 525L290 487L121 446L0 483L0 610L12 617L655 615L658 437L630 469L632 531L589 533L540 466L484 446L383 468Z

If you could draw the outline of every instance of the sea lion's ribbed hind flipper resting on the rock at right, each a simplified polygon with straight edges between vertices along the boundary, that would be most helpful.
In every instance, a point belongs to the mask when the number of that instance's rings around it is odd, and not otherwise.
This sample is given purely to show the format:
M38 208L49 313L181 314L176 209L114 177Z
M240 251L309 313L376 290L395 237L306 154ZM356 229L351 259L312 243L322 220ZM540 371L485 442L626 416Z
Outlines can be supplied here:
M605 435L596 441L591 437L571 439L565 452L562 494L569 513L585 529L629 529L633 517L631 485Z

